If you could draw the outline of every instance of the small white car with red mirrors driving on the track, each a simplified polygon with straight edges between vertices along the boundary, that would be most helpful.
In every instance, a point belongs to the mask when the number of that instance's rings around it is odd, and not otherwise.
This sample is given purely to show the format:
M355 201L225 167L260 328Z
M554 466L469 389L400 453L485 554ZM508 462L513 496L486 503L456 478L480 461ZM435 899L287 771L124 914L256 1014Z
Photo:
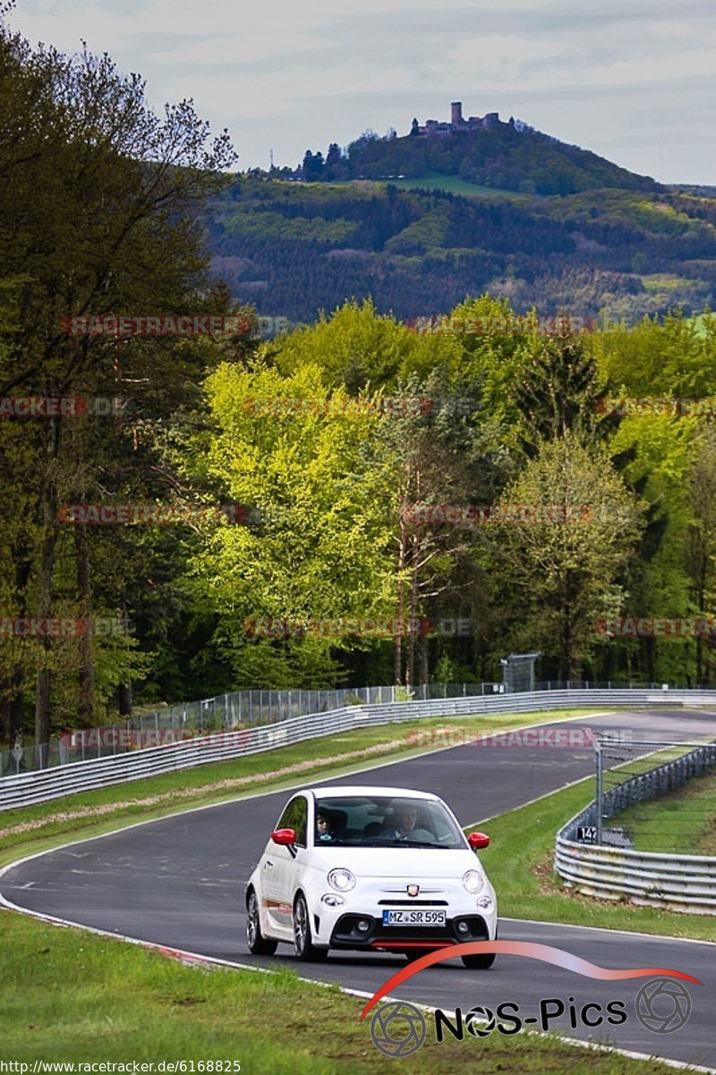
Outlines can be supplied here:
M438 796L405 788L308 788L288 802L246 887L249 951L293 944L299 960L330 948L404 952L497 936L495 890ZM494 955L463 956L470 968Z

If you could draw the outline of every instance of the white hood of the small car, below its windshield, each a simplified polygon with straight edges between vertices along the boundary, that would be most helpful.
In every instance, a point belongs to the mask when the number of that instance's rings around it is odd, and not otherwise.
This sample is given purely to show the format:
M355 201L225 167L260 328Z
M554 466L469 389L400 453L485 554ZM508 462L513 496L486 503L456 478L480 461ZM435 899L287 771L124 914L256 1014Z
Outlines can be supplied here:
M420 877L462 877L467 870L484 869L474 851L465 848L429 847L317 847L311 855L312 864L319 869L347 869L360 877L380 877L381 880L406 875Z

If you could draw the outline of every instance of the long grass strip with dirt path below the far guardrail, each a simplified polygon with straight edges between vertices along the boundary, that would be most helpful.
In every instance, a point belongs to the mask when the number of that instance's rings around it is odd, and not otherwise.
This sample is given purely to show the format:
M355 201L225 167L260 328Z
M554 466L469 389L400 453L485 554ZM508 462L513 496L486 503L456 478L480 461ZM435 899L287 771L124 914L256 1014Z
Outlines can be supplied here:
M35 806L3 811L0 814L0 865L23 855L55 847L67 840L100 835L132 821L164 817L190 806L224 802L258 790L280 790L302 782L316 783L336 773L354 772L367 765L422 754L425 747L415 749L419 732L449 729L473 734L552 722L588 713L588 710L562 710L462 719L435 717L381 725L308 740L232 761L213 762L117 787L65 796ZM443 740L442 745L444 743Z

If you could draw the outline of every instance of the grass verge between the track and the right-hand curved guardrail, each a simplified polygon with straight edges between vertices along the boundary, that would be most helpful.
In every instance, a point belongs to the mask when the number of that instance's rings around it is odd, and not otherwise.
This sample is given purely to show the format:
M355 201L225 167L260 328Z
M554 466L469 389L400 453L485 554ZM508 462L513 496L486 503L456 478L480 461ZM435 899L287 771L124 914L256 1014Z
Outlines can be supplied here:
M497 890L499 914L658 936L713 941L708 915L670 914L626 900L595 900L565 888L553 870L557 830L594 799L594 779L502 814L477 828L492 838L480 859Z

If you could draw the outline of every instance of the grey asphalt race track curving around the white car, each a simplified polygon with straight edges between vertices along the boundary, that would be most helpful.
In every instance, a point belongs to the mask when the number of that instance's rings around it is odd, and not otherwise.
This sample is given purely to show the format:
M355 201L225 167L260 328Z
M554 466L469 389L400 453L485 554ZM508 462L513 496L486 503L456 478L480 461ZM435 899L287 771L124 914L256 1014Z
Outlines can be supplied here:
M546 726L545 726L546 727ZM634 712L570 721L600 732L630 730L643 736L716 735L716 715L701 711ZM440 752L335 778L340 784L421 788L450 803L464 826L501 814L589 775L591 749L544 747L454 747ZM240 799L134 826L106 836L49 851L11 868L0 878L8 903L67 921L169 947L255 966L293 966L305 977L338 983L372 994L404 968L403 957L332 952L321 965L299 964L289 946L274 957L252 957L244 942L244 885L287 801L284 791ZM485 823L489 831L489 825ZM489 869L488 858L485 865ZM499 900L499 876L491 874ZM647 979L603 983L515 956L498 956L489 971L468 971L457 960L429 968L392 995L453 1010L474 1005L520 1005L536 1022L540 1001L559 999L565 1015L550 1022L584 1041L716 1069L716 946L643 934L500 919L500 940L534 941L566 949L610 969L668 968L699 978L687 983L689 1021L672 1033L646 1030L633 1002ZM714 923L716 941L716 921ZM570 1026L573 999L578 1026ZM589 1028L582 1006L626 1003L622 1026ZM594 1009L589 1012L594 1018ZM433 1040L428 1023L429 1040ZM497 1033L497 1031L494 1031ZM509 1041L509 1038L505 1038ZM369 1047L367 1020L366 1042ZM466 1035L466 1060L477 1058L480 1040ZM575 1070L579 1057L575 1056Z

